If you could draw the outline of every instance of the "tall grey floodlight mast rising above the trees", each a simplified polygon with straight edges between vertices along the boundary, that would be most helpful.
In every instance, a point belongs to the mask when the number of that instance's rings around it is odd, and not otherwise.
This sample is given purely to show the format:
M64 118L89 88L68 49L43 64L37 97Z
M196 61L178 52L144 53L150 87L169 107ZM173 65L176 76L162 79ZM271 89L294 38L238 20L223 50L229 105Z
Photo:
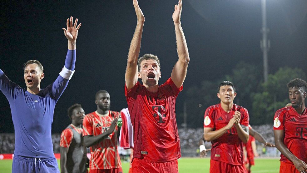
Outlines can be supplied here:
M269 28L266 26L266 0L261 0L261 14L262 14L262 40L260 40L260 48L263 52L263 76L264 81L268 81L269 65L268 65L268 53L270 50L270 40L268 40Z

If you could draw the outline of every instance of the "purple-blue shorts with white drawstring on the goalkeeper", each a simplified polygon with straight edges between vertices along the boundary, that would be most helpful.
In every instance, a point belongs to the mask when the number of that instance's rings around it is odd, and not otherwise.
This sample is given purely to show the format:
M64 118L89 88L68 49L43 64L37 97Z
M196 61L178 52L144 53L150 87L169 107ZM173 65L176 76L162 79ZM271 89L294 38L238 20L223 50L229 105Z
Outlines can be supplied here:
M60 173L57 159L32 158L14 155L12 173Z

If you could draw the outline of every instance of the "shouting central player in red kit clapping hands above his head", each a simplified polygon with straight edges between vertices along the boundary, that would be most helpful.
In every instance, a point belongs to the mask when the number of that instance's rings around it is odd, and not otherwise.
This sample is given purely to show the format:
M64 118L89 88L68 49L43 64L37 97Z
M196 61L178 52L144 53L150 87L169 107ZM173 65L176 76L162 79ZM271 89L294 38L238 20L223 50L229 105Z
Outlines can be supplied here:
M190 60L180 21L182 1L175 5L172 16L179 59L171 77L160 86L158 57L145 54L138 59L145 18L136 0L133 0L133 5L137 25L130 44L125 74L125 95L134 129L132 172L178 172L177 159L181 154L175 102L183 88ZM138 78L143 84L137 81Z

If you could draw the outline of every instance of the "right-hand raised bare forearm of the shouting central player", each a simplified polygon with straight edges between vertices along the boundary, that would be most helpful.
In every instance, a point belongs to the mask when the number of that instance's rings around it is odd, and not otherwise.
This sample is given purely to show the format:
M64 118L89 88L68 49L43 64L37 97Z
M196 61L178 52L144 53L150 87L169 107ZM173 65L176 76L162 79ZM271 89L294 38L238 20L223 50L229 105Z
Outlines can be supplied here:
M186 44L186 38L182 31L181 23L174 23L176 33L176 44L179 61L188 64L190 61L188 46Z

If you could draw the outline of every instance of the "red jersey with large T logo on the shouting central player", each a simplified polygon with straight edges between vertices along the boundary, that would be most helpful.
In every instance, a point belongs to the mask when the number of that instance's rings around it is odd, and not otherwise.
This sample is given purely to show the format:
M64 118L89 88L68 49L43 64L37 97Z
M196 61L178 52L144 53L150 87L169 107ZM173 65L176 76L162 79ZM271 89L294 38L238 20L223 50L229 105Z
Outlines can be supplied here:
M139 82L125 95L134 129L134 157L167 162L181 157L175 103L178 89L169 78L151 93Z

